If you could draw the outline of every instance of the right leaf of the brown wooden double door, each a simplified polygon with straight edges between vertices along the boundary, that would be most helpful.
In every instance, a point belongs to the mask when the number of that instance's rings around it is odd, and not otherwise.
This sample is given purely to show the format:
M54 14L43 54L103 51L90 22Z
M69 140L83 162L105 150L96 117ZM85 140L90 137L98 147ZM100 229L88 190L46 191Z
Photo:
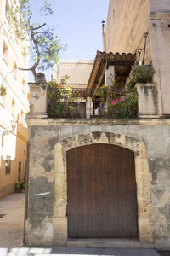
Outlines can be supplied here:
M103 237L138 237L133 152L100 144Z

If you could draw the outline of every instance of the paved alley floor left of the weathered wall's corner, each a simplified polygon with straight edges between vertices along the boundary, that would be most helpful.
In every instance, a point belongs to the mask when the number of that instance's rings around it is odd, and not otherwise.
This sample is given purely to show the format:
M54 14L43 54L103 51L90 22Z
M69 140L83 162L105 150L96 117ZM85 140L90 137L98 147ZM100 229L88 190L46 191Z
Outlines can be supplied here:
M0 214L5 214L0 218L0 247L22 247L24 207L25 193L14 193L0 199Z

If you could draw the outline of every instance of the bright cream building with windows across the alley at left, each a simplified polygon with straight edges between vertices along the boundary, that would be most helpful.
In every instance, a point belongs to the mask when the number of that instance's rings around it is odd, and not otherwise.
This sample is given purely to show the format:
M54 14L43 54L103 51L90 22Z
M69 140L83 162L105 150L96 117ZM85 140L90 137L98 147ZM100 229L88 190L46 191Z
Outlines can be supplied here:
M6 9L14 2L0 1L0 198L14 192L14 184L25 179L26 168L28 73L17 67L28 67L29 57L22 54L28 43L16 38L8 23Z

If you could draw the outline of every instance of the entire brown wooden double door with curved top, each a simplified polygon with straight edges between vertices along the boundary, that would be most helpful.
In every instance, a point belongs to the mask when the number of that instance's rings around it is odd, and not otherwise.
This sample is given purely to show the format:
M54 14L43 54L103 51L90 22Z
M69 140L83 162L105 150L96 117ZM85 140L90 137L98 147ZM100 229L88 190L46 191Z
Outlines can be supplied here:
M137 238L134 154L111 144L67 152L69 238Z

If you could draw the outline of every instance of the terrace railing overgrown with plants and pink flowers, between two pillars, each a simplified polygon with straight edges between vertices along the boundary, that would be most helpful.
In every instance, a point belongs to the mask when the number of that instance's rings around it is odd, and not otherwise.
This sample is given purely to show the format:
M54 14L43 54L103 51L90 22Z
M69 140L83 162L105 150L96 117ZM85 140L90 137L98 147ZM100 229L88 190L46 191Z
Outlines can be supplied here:
M67 89L48 87L49 118L137 117L138 96L135 89L102 87L96 92L88 90L88 94L85 88Z

